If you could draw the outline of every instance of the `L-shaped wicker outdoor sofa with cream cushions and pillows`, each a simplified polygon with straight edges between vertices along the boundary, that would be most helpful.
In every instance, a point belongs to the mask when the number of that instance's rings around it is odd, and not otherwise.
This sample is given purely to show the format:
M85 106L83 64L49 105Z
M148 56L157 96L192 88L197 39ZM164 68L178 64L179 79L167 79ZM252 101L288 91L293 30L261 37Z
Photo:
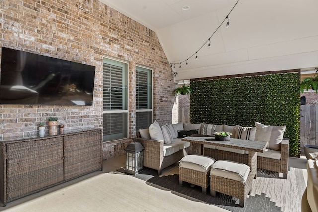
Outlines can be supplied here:
M144 150L144 166L161 171L180 161L187 154L201 152L200 145L191 146L190 143L181 141L184 136L200 133L213 135L216 131L232 133L233 138L267 141L268 146L264 153L257 153L257 168L283 173L287 178L289 140L283 138L286 126L270 126L255 122L256 127L242 127L239 125L214 125L214 124L165 124L160 126L156 121L148 129L140 129L139 137L135 142L140 142ZM154 129L156 129L154 131ZM161 129L161 134L160 134ZM169 130L167 130L169 129ZM154 134L155 132L155 134ZM159 135L159 136L158 136ZM247 164L248 151L204 145L204 155L216 160L229 160Z

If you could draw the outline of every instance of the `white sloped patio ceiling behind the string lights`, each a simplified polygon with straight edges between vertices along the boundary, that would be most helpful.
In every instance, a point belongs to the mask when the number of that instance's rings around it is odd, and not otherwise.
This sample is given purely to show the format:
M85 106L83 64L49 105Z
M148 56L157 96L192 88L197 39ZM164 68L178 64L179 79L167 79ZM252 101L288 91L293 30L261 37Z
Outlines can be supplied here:
M318 67L318 0L239 0L218 30L237 0L99 1L156 32L176 80Z

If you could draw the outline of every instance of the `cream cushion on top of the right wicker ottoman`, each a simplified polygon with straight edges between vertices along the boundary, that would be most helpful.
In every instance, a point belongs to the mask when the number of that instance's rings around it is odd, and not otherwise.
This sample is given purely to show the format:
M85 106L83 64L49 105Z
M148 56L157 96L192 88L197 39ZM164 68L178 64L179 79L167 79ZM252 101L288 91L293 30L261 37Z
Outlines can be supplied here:
M246 164L218 160L212 164L210 176L215 175L239 182L246 182L249 172L250 168Z

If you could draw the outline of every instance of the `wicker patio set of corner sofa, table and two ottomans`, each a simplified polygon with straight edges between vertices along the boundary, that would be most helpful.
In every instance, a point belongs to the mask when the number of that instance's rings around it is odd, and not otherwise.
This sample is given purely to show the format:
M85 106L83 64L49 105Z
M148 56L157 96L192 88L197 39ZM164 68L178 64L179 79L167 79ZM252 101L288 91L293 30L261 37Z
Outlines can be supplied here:
M134 141L145 148L145 167L160 174L164 168L179 161L180 185L188 182L200 186L202 193L207 193L210 186L212 196L220 192L237 197L239 205L244 207L253 179L257 177L256 167L281 172L283 179L287 179L288 174L289 146L288 139L283 138L286 126L258 122L255 125L178 123L160 126L155 121L148 129L141 129L141 137ZM214 135L218 131L228 132L234 138L218 141ZM168 157L174 158L170 165L163 163Z

